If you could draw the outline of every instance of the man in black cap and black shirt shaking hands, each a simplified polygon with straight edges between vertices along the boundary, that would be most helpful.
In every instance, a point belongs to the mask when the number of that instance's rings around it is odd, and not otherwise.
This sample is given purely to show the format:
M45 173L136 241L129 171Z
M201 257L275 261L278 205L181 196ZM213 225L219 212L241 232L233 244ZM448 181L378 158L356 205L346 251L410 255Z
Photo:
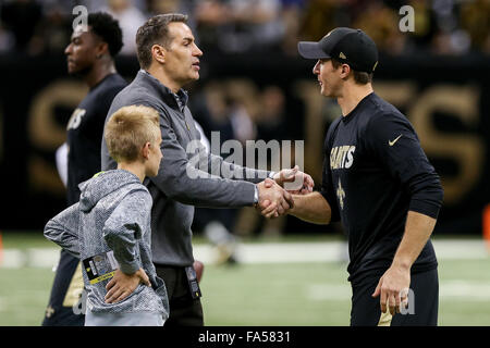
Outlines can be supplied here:
M372 90L375 42L341 27L298 50L318 60L313 72L321 95L336 98L342 116L327 133L321 190L295 195L289 213L318 224L342 221L351 325L437 325L438 263L429 237L443 191L411 123Z

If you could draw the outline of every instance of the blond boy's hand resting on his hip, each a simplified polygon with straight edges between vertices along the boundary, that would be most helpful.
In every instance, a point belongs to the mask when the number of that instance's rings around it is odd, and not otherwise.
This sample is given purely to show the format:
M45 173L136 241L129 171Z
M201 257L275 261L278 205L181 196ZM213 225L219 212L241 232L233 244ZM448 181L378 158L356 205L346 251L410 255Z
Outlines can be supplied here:
M133 274L124 274L121 270L117 270L112 279L106 285L106 303L122 301L136 289L139 283L151 287L148 275L143 269Z

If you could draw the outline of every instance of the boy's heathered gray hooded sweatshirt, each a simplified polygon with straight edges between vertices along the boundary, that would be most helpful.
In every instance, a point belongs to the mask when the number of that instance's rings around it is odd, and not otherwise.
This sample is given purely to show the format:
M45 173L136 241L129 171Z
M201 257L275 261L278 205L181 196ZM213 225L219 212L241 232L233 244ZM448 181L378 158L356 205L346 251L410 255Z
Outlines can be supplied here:
M124 300L106 303L110 278L90 284L90 270L84 268L88 309L94 313L154 312L167 320L167 289L151 262L152 200L148 189L124 170L101 172L79 188L79 202L51 219L45 236L81 260L112 250L122 272L132 274L143 268L151 283L151 288L139 284Z

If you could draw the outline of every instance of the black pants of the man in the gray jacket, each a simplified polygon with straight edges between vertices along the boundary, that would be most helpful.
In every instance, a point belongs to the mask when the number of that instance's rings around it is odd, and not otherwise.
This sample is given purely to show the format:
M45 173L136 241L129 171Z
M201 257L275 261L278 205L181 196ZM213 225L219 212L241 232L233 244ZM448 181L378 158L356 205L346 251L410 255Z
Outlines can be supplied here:
M193 299L185 269L160 264L155 268L166 283L169 296L170 316L164 326L204 326L200 298Z

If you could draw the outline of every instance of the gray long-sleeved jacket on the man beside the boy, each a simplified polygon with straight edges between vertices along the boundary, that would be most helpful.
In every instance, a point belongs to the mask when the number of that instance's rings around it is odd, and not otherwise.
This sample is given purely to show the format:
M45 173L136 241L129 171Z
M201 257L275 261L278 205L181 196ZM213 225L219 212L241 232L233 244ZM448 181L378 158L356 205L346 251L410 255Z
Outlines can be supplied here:
M160 114L163 158L157 176L145 181L154 207L151 211L151 246L154 262L187 266L194 262L191 224L194 206L241 208L253 206L254 183L269 173L228 163L208 153L200 145L200 135L186 107L187 95L177 95L157 78L140 70L135 79L115 96L108 113L127 105L146 105ZM198 161L196 161L196 156ZM102 170L114 169L106 141L101 146ZM217 169L221 169L218 171ZM209 175L211 173L215 175ZM223 173L233 173L223 178Z

